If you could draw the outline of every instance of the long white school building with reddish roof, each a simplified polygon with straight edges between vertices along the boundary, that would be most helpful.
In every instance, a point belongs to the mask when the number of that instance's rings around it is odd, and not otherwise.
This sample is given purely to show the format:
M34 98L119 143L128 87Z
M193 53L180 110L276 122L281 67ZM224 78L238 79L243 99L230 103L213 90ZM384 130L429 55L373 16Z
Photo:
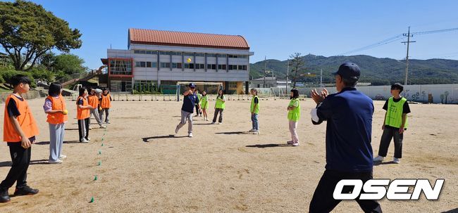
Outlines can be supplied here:
M108 49L106 86L113 92L151 90L177 82L221 82L247 93L247 40L240 35L129 29L128 49Z

